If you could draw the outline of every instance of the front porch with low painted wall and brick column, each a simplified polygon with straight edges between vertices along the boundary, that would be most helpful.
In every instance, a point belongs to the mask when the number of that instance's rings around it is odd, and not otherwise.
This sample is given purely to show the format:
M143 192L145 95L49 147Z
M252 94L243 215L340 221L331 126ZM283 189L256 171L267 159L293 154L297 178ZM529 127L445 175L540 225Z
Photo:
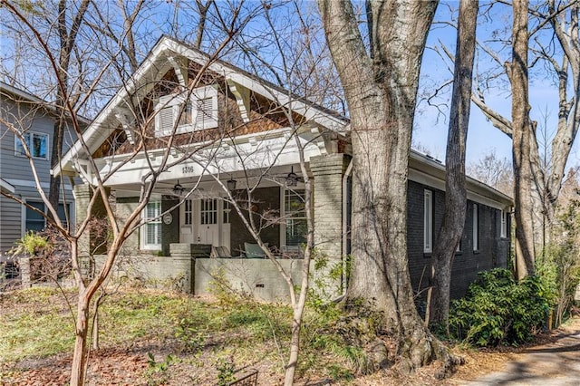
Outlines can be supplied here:
M317 253L328 259L329 267L341 264L343 255L348 253L343 207L346 206L348 176L345 177L345 170L349 160L343 154L332 154L312 158L308 163L314 181L315 247ZM263 179L253 189L251 201L247 200L247 179L240 179L235 173L228 173L223 181L217 181L214 176L162 181L142 212L143 225L124 245L123 255L129 257L129 263L120 267L117 275L140 280L144 285L179 288L191 294L207 294L209 284L218 275L227 279L234 289L254 294L256 298L288 301L285 282L275 265L259 251L249 253L248 245L256 246L256 240L244 219L253 217L262 241L299 283L306 221L304 186L301 182L296 186L285 184L287 174L294 170L297 168L275 169L274 178ZM224 189L228 180L237 180L237 187L229 191L230 195ZM171 194L178 184L191 190L189 195ZM128 185L111 187L111 200L114 198L120 222L138 206L136 192L137 189ZM77 205L86 205L89 189L78 186L76 194L81 198L77 199ZM78 207L76 213L86 213L86 210ZM324 270L315 273L325 274ZM341 285L337 280L329 285L328 293L339 294Z

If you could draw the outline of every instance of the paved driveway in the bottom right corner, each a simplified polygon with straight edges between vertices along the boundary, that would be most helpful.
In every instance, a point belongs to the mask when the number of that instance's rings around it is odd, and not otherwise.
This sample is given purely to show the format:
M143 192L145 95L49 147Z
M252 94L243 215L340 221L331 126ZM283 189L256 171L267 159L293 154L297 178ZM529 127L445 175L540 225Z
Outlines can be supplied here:
M561 333L557 341L527 349L522 359L508 362L469 386L580 385L580 330Z

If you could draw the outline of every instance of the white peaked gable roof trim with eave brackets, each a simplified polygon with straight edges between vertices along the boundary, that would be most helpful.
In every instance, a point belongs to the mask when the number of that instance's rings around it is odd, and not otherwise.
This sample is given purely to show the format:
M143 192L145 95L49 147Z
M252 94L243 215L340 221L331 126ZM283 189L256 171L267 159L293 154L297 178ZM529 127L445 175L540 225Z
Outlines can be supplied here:
M131 125L131 114L126 101L130 98L144 98L155 84L169 71L174 72L175 77L182 86L188 82L187 61L204 65L211 60L210 56L201 53L197 49L185 43L180 43L168 36L162 36L158 43L151 49L148 57L141 63L139 69L133 74L131 80L126 83L102 109L91 125L84 131L83 139L89 151L93 153L105 143L113 132L119 127ZM254 92L275 103L284 106L285 109L304 116L306 121L324 127L326 130L343 132L348 120L333 111L329 111L313 102L298 98L289 94L284 89L275 86L245 72L231 64L214 60L208 65L208 71L218 73L227 81L229 91L237 98L237 106L242 119L247 121L250 113L249 94ZM135 103L137 104L137 103ZM131 136L128 132L128 139ZM73 172L73 159L86 159L85 150L82 150L80 141L76 141L61 161L61 164L53 169L54 174L62 171Z

